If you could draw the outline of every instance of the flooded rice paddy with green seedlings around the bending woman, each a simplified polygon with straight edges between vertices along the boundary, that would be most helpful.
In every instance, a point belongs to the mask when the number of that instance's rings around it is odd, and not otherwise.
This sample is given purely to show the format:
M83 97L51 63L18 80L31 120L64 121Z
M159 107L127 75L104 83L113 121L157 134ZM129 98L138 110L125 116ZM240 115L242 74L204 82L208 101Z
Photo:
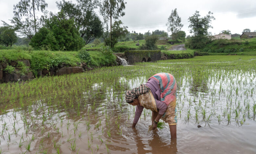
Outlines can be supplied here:
M0 84L0 154L255 153L255 59L198 56ZM159 72L177 81L177 140L168 125L148 132L150 110L131 128L124 92Z

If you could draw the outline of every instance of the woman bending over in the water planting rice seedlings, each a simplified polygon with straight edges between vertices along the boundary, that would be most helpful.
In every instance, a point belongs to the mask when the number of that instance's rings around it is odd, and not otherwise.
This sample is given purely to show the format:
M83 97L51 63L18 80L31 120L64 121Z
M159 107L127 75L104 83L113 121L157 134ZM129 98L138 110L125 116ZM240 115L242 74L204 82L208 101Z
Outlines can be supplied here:
M169 124L171 138L176 139L176 89L175 78L169 73L158 73L146 84L127 90L125 100L136 107L132 127L139 121L143 108L152 111L152 125L155 129L160 119Z

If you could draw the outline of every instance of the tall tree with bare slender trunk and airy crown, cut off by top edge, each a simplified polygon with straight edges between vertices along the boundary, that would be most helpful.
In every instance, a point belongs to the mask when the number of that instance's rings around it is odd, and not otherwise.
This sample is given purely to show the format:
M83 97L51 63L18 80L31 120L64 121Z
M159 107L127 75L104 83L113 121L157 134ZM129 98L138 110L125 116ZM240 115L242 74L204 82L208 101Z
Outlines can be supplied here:
M100 3L100 14L104 18L104 22L108 22L110 20L110 40L112 40L112 18L118 19L120 16L124 16L125 9L124 0L102 0Z

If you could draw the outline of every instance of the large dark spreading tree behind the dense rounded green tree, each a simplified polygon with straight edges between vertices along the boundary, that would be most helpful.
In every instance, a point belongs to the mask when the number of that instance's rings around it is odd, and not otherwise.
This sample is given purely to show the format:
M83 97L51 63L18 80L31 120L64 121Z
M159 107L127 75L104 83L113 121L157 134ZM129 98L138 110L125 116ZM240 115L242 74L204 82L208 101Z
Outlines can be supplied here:
M103 25L99 17L93 11L97 1L76 0L77 4L63 0L56 2L57 7L63 11L66 18L75 20L75 27L79 29L80 36L84 38L85 44L100 37L103 33Z

